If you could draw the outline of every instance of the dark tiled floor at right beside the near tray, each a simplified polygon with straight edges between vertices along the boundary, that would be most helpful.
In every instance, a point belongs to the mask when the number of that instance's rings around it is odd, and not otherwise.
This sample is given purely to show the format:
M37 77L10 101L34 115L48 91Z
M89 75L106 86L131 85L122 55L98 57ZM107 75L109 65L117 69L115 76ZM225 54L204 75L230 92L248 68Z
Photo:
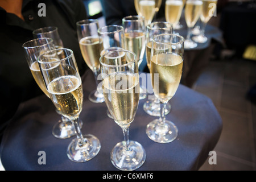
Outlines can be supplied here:
M223 121L217 164L207 160L200 170L256 170L256 105L246 99L254 84L256 61L236 57L210 61L193 86L212 99Z

